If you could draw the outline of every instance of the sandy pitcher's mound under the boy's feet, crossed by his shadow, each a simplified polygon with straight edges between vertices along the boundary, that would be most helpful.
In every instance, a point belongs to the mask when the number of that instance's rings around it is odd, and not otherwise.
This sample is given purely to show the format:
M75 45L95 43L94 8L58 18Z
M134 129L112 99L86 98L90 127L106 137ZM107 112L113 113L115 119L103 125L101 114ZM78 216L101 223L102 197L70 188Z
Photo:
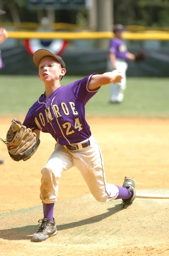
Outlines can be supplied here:
M169 195L169 189L140 189L137 193ZM11 245L16 255L25 255L26 248L29 255L37 255L41 248L46 256L46 250L59 253L52 255L134 255L133 250L136 255L169 254L169 199L136 198L123 209L121 200L103 204L84 195L58 201L54 217L58 234L37 244L30 239L38 219L43 218L41 205L1 214L2 249L8 244L9 253ZM150 254L146 254L147 248Z

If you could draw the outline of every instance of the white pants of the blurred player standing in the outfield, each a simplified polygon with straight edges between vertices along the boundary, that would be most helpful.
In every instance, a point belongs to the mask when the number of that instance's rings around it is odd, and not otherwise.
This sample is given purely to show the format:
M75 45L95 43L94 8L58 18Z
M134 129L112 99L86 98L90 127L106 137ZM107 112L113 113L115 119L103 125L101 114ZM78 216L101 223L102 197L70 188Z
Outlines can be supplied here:
M112 84L110 91L110 102L122 102L124 97L124 90L126 89L126 70L128 64L126 61L116 59L117 70L123 75L121 83ZM112 64L109 61L109 70L112 71Z

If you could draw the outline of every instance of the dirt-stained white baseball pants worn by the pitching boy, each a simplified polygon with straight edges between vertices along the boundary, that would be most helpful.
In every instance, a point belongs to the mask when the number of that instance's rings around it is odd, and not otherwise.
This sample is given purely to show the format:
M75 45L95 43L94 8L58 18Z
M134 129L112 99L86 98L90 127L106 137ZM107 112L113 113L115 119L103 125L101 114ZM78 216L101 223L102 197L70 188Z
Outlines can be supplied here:
M117 198L119 193L117 186L106 183L100 147L93 136L89 140L90 145L88 147L80 148L77 151L70 151L64 146L56 144L48 163L41 171L40 199L43 204L57 201L61 173L73 166L79 169L97 201L108 202ZM77 144L80 145L81 143Z

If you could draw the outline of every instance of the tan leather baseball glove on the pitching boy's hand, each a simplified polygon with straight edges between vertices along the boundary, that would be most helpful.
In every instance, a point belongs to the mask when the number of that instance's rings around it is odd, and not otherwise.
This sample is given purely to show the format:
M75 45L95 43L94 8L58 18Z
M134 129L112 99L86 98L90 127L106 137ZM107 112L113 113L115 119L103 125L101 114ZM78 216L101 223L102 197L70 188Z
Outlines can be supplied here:
M3 142L6 143L9 155L14 161L28 160L40 144L36 134L18 119L12 119L6 141Z

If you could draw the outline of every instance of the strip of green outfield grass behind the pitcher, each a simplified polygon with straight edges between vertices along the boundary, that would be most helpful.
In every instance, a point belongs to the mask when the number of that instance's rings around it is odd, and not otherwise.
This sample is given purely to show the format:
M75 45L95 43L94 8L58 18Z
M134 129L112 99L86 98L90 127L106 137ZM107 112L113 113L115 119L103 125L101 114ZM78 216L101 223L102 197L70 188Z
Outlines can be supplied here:
M80 78L65 77L62 84ZM127 78L124 102L119 105L109 104L110 87L101 87L86 104L86 117L169 118L168 78ZM0 116L25 115L42 93L38 76L1 76Z

